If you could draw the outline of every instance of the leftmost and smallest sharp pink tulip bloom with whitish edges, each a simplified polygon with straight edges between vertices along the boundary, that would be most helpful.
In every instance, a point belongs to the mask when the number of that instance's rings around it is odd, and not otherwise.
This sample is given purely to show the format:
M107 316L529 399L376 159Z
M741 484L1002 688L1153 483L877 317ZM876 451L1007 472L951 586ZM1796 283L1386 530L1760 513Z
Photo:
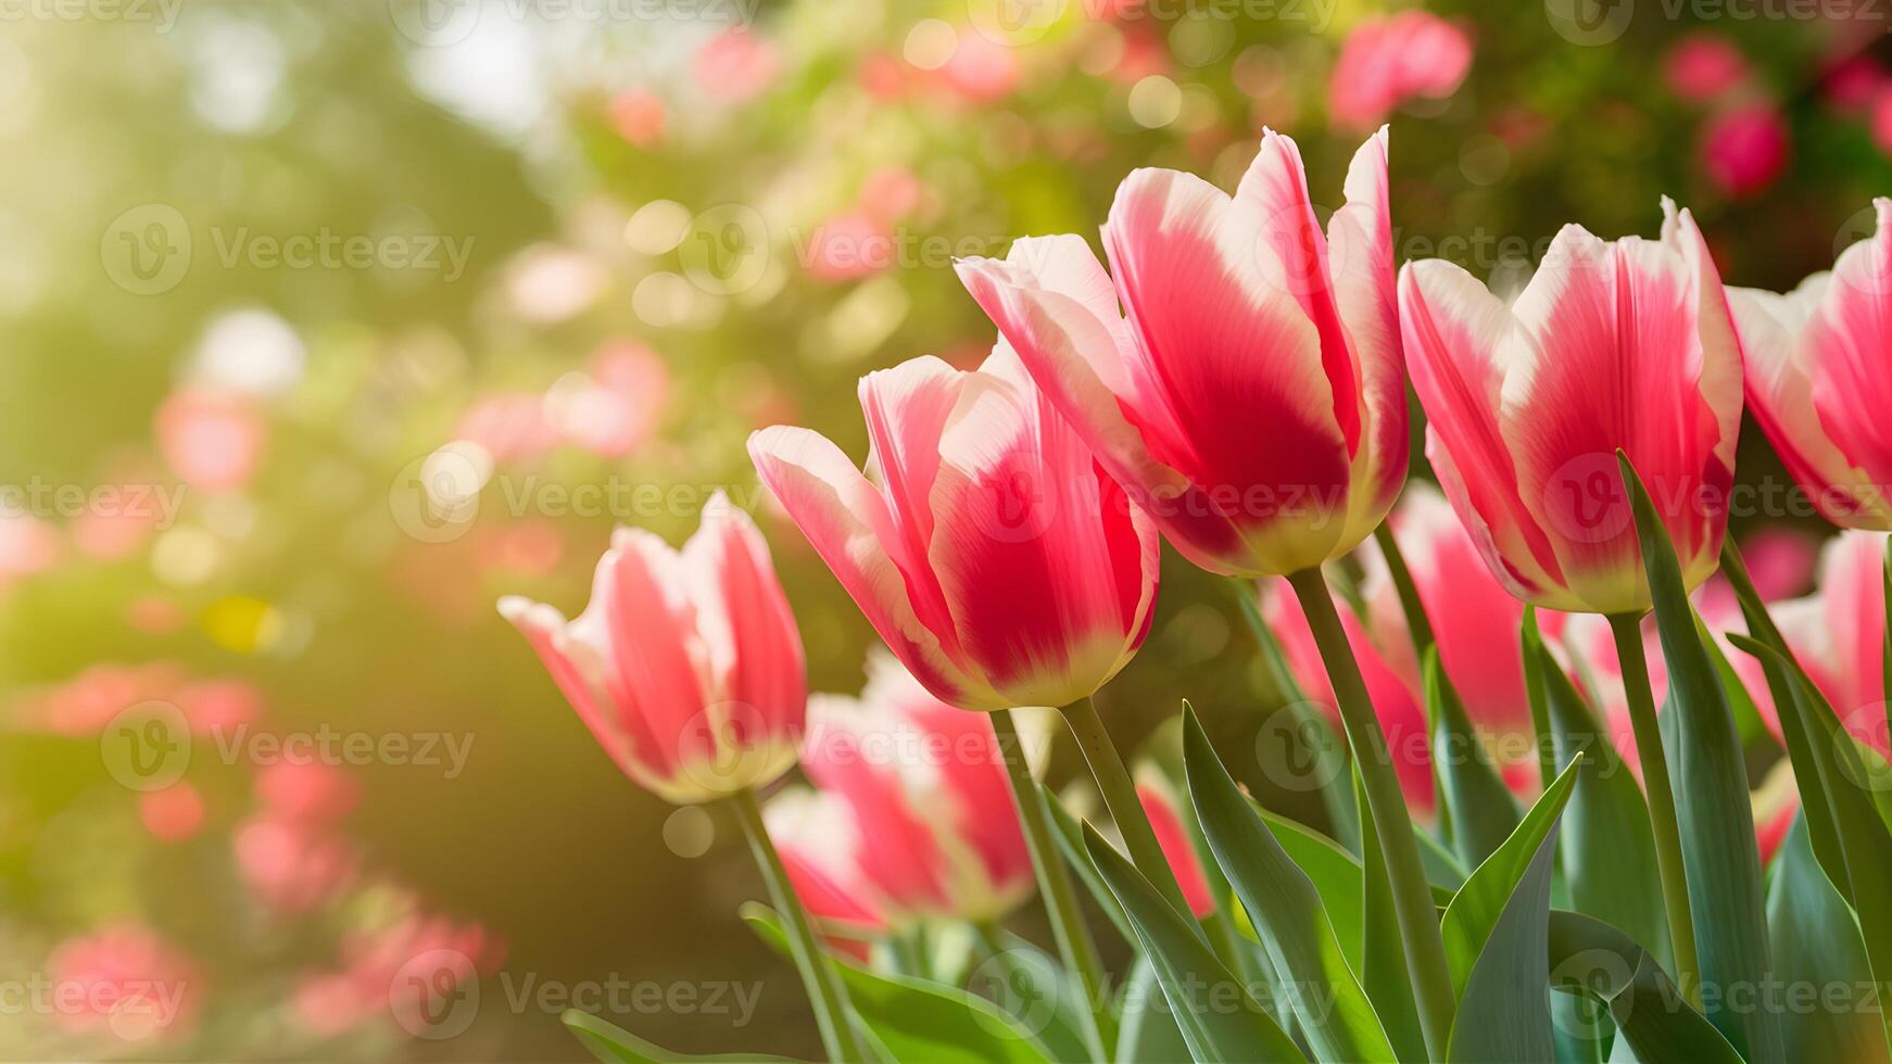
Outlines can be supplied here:
M499 599L499 614L605 752L658 798L728 798L795 764L802 639L768 544L723 493L681 552L617 529L577 618L518 595Z

